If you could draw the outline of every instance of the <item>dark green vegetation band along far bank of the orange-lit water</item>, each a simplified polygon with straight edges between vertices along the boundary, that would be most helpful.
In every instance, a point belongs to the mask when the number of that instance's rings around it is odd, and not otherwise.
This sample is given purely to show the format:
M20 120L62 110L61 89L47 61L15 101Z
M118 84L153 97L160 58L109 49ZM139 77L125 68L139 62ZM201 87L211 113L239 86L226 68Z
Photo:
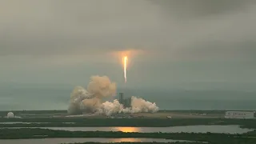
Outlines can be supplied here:
M256 119L225 118L0 118L0 122L50 122L1 124L0 127L76 127L76 126L195 126L195 125L239 125L256 128ZM74 122L74 123L63 123Z

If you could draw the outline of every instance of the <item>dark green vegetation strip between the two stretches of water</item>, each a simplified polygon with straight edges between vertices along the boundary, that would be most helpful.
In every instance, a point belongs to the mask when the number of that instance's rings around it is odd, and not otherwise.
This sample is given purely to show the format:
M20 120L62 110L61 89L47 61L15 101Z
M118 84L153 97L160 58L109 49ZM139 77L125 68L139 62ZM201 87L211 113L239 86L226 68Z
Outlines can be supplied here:
M188 140L194 142L209 143L245 143L255 144L256 131L246 134L194 134L194 133L123 133L103 131L65 131L65 130L43 130L43 129L2 129L1 139L20 138L166 138L174 140Z

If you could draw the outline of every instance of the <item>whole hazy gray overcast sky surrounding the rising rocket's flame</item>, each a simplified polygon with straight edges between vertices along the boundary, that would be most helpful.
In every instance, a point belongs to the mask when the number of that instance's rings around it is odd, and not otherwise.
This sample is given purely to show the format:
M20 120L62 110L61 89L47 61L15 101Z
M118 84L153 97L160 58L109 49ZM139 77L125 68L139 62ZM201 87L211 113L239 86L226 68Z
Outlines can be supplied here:
M256 82L255 0L0 0L2 82Z

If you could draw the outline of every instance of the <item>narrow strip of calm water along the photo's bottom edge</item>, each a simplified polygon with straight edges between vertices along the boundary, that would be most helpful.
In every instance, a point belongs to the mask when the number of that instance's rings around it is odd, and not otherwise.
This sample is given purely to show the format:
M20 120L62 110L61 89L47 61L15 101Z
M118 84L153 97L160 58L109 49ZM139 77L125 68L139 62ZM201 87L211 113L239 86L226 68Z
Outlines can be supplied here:
M0 139L2 144L59 144L75 142L178 142L161 138L42 138L42 139ZM187 142L187 141L179 141Z

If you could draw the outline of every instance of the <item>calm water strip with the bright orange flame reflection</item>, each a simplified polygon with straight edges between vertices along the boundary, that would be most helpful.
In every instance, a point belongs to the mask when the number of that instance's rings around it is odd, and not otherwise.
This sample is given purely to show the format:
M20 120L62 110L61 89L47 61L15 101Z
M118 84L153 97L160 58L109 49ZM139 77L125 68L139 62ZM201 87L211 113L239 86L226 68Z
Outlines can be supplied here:
M38 127L50 130L68 130L68 131L122 131L122 132L140 132L140 133L225 133L242 134L251 131L251 129L242 129L239 126L171 126L171 127Z

